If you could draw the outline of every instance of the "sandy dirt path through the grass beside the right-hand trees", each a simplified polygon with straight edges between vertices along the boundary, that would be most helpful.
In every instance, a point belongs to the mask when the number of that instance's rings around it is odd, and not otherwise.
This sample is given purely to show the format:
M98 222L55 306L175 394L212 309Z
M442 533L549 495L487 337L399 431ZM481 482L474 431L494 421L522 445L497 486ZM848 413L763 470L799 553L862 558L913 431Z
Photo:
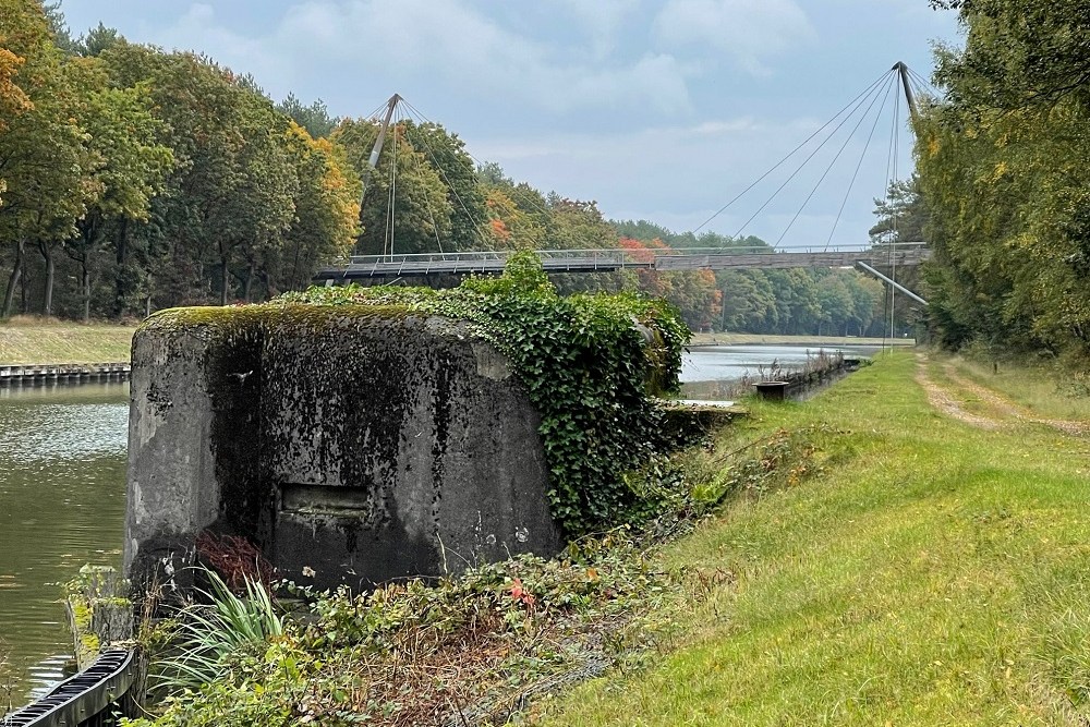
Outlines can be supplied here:
M1090 434L1090 422L1073 422L1036 416L1033 412L1025 407L1020 407L992 389L961 376L957 373L953 364L946 363L943 365L943 373L946 377L958 387L960 392L969 393L983 402L989 408L991 416L968 412L948 388L936 384L928 376L927 356L919 354L917 355L917 361L919 363L917 381L927 392L928 401L931 405L947 416L983 429L998 429L1015 424L1043 424L1065 434Z

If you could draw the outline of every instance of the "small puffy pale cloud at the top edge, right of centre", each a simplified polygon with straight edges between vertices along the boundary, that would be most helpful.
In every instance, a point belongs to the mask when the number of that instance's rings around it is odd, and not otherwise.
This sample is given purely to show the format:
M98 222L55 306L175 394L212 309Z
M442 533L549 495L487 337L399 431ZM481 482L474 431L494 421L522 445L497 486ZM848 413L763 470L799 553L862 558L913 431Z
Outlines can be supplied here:
M655 19L661 46L678 56L726 54L750 73L815 37L795 0L668 0Z

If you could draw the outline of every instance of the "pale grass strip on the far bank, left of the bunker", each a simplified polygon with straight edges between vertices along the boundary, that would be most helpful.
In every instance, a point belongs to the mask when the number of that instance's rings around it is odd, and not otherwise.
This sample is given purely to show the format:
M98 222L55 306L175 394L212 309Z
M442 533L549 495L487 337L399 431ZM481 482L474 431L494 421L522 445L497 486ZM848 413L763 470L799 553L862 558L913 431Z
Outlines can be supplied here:
M129 361L135 326L15 318L0 324L0 364Z

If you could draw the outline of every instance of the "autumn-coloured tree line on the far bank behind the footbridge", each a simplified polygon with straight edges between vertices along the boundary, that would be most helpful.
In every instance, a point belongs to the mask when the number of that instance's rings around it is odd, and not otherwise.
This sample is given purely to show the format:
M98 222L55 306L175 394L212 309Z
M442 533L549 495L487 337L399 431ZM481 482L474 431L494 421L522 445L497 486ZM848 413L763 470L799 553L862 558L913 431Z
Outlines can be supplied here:
M58 7L0 0L0 318L265 300L353 253L767 247L607 220L477 162L419 117L393 124L372 168L378 133L322 101L274 102L204 56L101 24L74 38ZM664 296L693 329L867 335L884 322L881 286L852 270L555 281Z

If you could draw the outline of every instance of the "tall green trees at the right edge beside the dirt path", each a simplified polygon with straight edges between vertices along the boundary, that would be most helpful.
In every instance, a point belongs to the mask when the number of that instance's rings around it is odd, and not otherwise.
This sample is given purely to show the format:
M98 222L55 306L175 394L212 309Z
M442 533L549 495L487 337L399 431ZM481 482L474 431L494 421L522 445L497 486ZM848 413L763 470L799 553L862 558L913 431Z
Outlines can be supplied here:
M950 348L1090 354L1090 22L1074 0L933 0L965 47L936 51L917 121L934 263L929 317Z

